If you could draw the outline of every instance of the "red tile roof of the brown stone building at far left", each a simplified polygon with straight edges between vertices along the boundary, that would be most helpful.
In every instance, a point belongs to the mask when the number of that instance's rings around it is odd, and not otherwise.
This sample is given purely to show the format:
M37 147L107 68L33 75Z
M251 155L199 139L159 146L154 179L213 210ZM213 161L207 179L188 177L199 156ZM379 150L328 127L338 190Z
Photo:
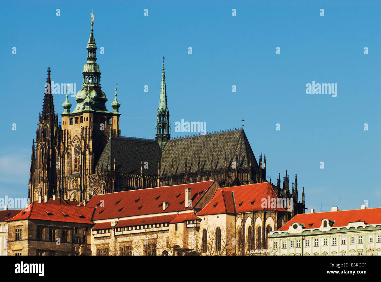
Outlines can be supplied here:
M30 206L23 209L12 219L8 219L6 221L22 219L40 219L60 222L93 224L93 222L91 221L93 212L94 208L92 207L32 203L30 204Z

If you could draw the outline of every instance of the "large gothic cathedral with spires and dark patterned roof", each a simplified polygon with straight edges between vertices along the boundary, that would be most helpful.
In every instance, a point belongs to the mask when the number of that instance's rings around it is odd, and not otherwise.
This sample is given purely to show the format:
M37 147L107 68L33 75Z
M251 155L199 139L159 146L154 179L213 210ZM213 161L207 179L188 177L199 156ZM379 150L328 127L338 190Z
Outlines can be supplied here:
M164 62L155 138L122 136L117 88L106 109L91 21L82 89L72 109L68 94L62 120L54 110L51 69L45 84L42 113L32 143L31 202L51 198L87 202L95 194L217 180L221 187L266 182L266 155L256 160L242 128L171 138ZM305 212L304 187L298 203L297 176L272 184L279 197L293 199L292 216ZM270 180L271 183L271 180Z

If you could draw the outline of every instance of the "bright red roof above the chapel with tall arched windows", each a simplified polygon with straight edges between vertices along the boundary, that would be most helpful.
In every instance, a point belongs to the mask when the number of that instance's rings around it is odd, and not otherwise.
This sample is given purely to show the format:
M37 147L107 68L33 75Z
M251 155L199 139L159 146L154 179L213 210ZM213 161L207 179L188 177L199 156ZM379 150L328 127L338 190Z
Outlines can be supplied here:
M231 192L234 193L237 213L250 211L286 211L282 205L280 205L280 208L274 208L268 203L268 206L266 205L265 208L262 207L262 204L269 202L269 199L278 198L271 184L264 182L217 189L215 196L213 196L207 206L197 212L197 216L234 213L234 202ZM264 202L263 199L266 199L266 202Z

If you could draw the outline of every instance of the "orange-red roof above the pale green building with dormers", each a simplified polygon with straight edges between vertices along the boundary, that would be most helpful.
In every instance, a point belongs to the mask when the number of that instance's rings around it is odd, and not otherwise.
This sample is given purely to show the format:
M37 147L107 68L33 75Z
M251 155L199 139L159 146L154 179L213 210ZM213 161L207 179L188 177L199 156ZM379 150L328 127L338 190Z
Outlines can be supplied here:
M304 224L305 229L319 228L322 219L335 220L332 227L347 226L349 222L365 222L365 224L381 224L381 207L372 209L352 209L349 211L314 212L297 214L278 230L288 230L294 222Z

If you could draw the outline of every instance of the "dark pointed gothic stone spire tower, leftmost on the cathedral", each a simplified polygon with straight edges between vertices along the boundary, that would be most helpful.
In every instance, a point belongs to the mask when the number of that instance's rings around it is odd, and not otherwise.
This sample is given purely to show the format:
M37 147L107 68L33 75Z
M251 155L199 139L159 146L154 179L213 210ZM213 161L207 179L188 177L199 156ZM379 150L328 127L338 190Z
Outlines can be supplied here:
M48 68L42 113L38 116L36 143L33 140L30 159L28 198L31 201L41 201L43 196L51 197L56 193L60 139L61 125L58 125L58 115L54 112L53 86Z

